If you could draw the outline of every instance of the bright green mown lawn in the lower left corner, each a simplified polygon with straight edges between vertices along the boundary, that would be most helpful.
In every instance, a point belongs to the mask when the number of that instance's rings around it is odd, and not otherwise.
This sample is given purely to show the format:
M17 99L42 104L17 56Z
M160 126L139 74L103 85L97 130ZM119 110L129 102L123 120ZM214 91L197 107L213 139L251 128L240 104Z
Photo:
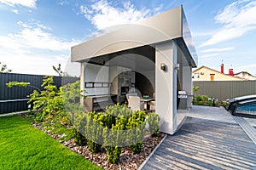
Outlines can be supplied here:
M0 117L0 169L101 169L20 116Z

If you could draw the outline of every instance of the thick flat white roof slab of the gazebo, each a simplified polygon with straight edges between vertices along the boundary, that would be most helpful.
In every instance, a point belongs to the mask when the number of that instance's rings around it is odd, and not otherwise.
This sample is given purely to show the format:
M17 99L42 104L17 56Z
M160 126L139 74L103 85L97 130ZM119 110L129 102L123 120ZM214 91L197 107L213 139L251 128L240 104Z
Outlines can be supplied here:
M145 45L154 46L171 40L181 48L189 65L196 67L197 54L182 6L133 25L122 26L119 30L101 37L81 42L71 48L71 60L83 62L85 59Z

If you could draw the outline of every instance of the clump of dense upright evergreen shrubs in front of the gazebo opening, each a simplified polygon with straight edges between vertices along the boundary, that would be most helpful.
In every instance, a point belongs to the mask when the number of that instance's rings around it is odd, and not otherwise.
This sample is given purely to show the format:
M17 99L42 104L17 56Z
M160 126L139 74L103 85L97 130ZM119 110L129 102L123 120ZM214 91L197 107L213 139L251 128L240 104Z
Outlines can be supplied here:
M119 161L122 148L127 143L134 153L141 151L146 123L144 111L132 113L129 108L117 104L108 106L106 113L91 111L84 116L81 114L74 114L73 126L79 124L79 133L87 139L90 151L98 152L104 144L111 163ZM159 116L152 113L149 120L152 132L158 130Z

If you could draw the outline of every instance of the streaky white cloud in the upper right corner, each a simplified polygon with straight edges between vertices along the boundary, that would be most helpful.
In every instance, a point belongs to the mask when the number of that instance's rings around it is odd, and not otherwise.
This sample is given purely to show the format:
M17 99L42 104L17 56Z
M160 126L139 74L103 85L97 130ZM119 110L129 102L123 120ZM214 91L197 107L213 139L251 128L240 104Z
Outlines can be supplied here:
M227 5L214 19L222 28L201 44L201 47L242 37L256 29L256 1L239 0Z

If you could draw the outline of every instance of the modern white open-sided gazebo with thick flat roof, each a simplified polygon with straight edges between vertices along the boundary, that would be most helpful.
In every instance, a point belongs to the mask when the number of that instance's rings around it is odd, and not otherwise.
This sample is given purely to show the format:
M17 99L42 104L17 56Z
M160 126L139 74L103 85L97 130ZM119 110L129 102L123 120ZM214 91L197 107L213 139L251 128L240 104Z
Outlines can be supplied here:
M81 100L85 107L110 98L123 103L125 93L136 88L154 96L160 131L169 134L178 127L177 91L188 94L191 107L197 55L182 6L81 42L71 48L71 60L81 63L81 90L93 98Z

